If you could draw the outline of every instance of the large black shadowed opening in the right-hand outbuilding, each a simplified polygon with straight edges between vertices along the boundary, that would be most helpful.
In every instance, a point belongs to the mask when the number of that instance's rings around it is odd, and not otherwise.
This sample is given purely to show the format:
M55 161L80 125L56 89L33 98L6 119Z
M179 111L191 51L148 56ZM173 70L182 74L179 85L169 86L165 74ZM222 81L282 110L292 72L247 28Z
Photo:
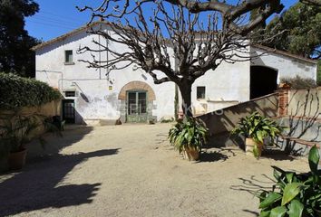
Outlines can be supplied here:
M277 70L266 66L251 66L250 99L256 99L277 90Z

